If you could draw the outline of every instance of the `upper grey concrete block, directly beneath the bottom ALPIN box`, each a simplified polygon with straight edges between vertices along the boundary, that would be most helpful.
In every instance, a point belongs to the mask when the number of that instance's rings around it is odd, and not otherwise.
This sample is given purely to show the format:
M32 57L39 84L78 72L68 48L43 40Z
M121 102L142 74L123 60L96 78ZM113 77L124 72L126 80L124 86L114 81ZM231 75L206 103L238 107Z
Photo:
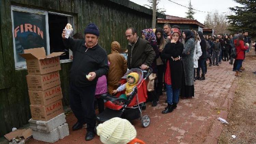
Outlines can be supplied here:
M66 123L65 117L66 115L62 113L48 121L30 119L28 122L30 123L30 128L32 130L37 130L40 132L50 132L58 126Z

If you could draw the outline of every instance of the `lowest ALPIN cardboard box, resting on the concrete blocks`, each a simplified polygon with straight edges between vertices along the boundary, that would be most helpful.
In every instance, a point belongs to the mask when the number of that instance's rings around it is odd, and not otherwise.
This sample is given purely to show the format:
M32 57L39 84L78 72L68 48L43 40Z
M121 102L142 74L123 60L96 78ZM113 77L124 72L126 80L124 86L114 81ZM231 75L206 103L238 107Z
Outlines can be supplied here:
M32 119L48 121L63 113L62 101L58 100L46 106L30 105Z

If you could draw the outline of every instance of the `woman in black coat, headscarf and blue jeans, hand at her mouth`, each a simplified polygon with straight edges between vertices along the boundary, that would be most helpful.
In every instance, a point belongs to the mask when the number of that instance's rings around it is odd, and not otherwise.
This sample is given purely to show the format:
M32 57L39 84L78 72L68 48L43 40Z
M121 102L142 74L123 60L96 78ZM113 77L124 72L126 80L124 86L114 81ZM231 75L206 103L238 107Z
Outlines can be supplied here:
M162 114L172 112L179 102L179 93L182 79L181 55L183 44L181 43L181 31L178 28L171 29L171 41L166 44L161 57L165 62L165 85L167 95L167 107Z

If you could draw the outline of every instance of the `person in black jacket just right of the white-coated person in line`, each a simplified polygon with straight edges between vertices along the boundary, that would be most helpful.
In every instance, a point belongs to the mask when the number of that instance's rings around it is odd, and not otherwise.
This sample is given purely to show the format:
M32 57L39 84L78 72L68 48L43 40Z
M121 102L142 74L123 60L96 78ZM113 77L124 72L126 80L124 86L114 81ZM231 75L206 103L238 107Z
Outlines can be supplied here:
M198 80L205 80L205 60L207 58L206 56L206 42L205 39L203 37L203 33L201 31L197 32L201 42L200 42L200 46L201 46L201 50L202 50L202 55L200 56L199 60L198 60L198 68L197 68L197 73L200 75L200 69L202 69L202 75L200 78L198 78Z

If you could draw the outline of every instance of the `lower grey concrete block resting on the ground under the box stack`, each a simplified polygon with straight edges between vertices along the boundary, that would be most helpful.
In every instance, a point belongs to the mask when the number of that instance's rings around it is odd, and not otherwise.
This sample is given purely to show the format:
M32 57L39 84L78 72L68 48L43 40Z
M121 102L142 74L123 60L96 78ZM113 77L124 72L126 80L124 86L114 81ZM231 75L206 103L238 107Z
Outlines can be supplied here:
M33 130L32 135L35 140L54 143L54 142L57 142L59 139L63 139L66 136L68 136L69 128L68 128L68 124L65 123L61 126L58 126L57 128L53 129L48 133Z

